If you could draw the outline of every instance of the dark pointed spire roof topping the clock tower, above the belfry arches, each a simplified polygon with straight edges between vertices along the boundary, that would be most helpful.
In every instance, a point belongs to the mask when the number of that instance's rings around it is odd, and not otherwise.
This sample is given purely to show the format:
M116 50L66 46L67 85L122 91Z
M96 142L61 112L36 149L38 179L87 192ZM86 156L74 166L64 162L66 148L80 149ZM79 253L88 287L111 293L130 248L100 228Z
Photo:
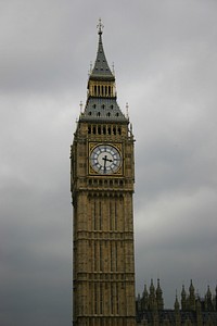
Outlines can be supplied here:
M111 68L107 64L107 60L105 58L104 49L103 49L103 43L102 43L102 28L103 25L101 23L101 20L98 25L99 28L99 43L98 43L98 53L97 53L97 59L95 63L93 66L93 70L90 74L89 79L97 79L97 80L115 80L114 75L111 72Z

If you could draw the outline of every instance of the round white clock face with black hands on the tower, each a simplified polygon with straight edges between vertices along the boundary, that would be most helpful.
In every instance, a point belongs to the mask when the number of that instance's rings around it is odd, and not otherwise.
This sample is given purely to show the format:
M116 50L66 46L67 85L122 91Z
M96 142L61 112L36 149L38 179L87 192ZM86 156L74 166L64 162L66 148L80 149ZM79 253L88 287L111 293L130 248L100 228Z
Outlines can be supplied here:
M115 147L98 145L90 153L90 164L99 174L114 174L122 165L122 156Z

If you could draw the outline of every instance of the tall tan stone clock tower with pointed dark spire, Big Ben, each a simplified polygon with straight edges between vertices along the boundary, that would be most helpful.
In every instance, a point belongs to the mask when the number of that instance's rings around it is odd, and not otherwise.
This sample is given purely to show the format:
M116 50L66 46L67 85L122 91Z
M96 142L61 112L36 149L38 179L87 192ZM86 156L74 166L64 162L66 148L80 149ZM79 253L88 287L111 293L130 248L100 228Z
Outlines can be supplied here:
M73 325L135 326L135 139L102 28L71 153Z

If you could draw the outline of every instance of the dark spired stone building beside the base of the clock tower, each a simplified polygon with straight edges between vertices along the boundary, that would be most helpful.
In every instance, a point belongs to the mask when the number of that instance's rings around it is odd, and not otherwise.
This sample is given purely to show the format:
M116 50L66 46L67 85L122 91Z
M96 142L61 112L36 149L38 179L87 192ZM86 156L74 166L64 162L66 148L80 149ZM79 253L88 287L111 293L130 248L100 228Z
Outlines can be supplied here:
M180 301L176 296L174 309L164 309L163 291L157 280L156 289L153 280L148 291L144 286L142 296L136 300L137 325L142 326L216 326L217 325L217 288L213 296L209 287L204 298L195 293L191 280L189 292L184 286Z

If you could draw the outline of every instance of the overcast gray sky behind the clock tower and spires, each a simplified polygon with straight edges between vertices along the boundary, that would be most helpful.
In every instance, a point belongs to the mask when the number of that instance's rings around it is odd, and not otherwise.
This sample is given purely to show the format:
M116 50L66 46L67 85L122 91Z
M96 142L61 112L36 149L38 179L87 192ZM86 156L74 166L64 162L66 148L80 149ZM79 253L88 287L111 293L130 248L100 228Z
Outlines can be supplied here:
M69 146L104 24L136 137L137 292L217 281L217 1L0 1L0 324L72 325Z

